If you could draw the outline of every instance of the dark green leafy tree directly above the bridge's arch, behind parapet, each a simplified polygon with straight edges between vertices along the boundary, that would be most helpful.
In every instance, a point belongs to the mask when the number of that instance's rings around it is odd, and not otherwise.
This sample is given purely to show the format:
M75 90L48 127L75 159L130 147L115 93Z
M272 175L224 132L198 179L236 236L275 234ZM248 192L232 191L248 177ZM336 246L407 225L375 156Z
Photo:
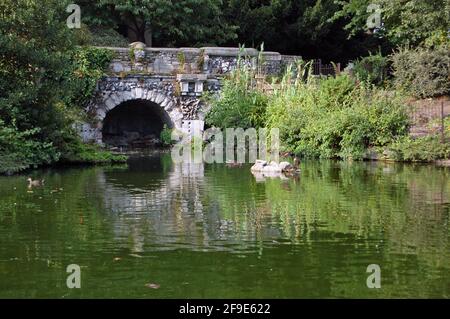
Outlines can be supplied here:
M236 37L222 17L221 0L100 0L97 6L149 46L220 45Z

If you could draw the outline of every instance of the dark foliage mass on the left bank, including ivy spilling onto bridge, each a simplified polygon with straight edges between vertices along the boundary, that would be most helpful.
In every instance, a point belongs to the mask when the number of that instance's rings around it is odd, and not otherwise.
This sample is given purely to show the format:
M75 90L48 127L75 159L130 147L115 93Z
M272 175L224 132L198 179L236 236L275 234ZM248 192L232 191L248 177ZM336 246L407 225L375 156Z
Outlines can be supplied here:
M0 4L0 173L75 152L72 124L111 55L75 47L65 14L56 0Z

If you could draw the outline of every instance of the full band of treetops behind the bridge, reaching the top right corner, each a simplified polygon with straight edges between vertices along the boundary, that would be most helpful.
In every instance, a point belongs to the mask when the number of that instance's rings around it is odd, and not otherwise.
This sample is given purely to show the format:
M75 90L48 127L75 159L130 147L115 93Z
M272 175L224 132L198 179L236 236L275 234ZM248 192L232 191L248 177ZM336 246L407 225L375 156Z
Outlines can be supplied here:
M101 0L77 2L90 27L153 46L266 44L270 51L346 62L398 45L448 43L448 0ZM369 30L370 4L383 26Z

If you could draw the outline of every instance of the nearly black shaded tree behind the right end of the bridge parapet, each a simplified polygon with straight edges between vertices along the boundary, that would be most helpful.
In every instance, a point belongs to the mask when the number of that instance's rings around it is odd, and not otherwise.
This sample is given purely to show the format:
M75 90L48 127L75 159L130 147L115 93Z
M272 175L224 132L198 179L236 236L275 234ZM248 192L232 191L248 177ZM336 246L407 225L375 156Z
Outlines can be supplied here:
M339 62L376 49L365 36L348 38L346 18L332 19L339 8L335 0L225 1L227 20L247 47L264 42L271 51Z

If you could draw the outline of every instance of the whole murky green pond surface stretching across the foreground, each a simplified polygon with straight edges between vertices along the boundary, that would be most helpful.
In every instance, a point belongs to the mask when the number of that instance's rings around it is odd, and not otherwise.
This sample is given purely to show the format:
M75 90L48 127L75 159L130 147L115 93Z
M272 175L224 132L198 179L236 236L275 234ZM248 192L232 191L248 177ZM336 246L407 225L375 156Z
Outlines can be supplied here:
M166 154L31 172L45 178L31 191L27 175L0 177L0 297L450 297L450 169L305 161L262 180L249 167Z

